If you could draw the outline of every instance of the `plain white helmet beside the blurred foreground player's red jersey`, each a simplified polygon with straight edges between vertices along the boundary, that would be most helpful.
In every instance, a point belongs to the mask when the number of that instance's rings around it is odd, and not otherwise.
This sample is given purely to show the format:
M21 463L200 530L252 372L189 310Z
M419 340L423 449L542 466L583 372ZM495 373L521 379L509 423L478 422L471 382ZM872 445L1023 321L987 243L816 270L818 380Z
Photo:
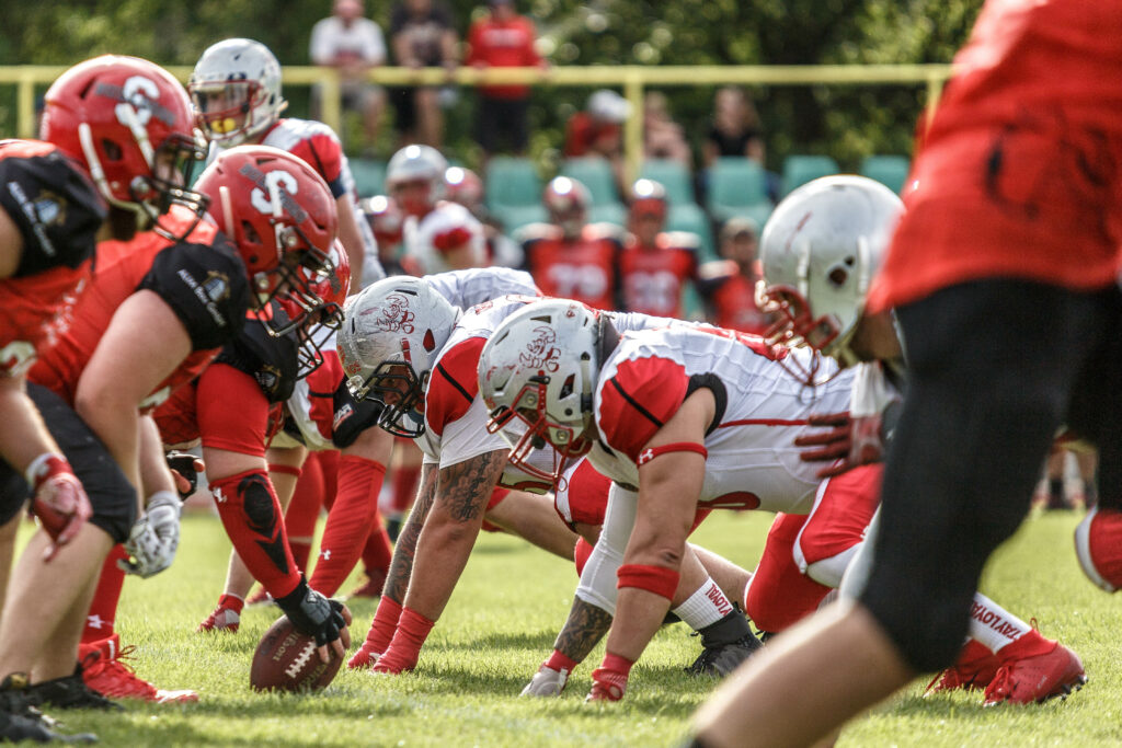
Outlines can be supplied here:
M779 316L767 338L855 363L849 343L902 213L895 193L854 175L815 179L783 198L760 240L756 303ZM813 384L818 361L792 373Z

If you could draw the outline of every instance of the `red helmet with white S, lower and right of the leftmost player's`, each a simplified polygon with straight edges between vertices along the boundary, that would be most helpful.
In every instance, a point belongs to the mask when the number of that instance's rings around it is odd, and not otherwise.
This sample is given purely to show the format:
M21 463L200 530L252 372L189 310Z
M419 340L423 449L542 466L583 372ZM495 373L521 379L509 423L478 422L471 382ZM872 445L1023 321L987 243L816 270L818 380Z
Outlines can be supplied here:
M334 273L338 216L331 191L311 166L278 148L238 146L220 154L195 188L210 198L211 216L245 261L258 308L275 297L301 310L322 304L313 286ZM283 334L304 316L280 329L263 322Z

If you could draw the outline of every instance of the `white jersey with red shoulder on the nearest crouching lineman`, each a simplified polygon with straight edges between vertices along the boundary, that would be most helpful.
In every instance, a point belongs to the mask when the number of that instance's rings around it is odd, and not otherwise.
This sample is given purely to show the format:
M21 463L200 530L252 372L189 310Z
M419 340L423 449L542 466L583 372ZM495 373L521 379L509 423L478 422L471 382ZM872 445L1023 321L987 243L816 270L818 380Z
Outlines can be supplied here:
M811 414L848 408L853 371L810 388L776 361L783 355L809 358L810 351L773 349L754 335L719 329L624 335L600 368L594 393L600 444L589 459L617 483L637 487L646 443L689 394L708 387L717 416L705 438L699 504L806 514L821 465L801 460L794 440L808 431ZM824 359L824 367L825 377L837 371L831 359Z

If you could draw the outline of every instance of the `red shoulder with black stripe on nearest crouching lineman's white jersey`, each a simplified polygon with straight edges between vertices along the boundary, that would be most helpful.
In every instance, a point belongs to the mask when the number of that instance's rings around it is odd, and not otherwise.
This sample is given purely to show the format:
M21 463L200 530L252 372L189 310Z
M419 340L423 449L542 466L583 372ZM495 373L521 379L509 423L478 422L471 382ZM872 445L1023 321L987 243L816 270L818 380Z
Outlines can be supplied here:
M622 361L600 394L600 437L633 462L686 399L686 368L650 357Z

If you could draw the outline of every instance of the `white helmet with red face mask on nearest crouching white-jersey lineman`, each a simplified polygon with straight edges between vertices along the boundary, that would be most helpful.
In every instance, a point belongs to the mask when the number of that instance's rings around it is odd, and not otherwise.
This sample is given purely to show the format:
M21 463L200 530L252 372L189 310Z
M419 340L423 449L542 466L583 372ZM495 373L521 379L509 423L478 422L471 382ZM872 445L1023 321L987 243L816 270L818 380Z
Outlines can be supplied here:
M569 461L588 454L607 324L606 315L579 302L549 298L504 320L484 345L479 394L490 412L487 431L502 430L516 468L555 484ZM546 443L555 452L550 473L530 461Z

